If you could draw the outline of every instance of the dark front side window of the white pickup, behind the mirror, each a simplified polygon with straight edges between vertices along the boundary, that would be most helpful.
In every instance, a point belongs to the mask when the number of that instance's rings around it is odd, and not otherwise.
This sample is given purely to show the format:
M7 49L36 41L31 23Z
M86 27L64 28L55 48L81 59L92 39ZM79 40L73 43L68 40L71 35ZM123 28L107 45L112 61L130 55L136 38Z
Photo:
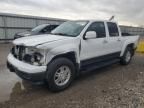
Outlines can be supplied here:
M95 31L97 33L97 38L106 37L104 22L94 22L92 23L87 31Z

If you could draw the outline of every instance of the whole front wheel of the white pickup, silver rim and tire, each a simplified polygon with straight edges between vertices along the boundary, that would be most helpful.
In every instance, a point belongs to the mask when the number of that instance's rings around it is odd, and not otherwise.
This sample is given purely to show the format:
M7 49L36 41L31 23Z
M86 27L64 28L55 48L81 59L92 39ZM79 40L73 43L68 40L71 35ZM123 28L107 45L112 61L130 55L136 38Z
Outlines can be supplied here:
M50 63L47 82L51 91L57 92L69 87L75 76L73 62L67 58L57 58Z

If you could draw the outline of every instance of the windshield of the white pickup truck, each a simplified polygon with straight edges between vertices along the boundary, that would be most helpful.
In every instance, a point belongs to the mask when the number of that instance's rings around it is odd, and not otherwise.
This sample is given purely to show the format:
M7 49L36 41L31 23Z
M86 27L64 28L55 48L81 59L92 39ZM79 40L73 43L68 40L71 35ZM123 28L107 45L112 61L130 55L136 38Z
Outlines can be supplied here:
M83 28L86 26L87 23L88 23L87 21L64 22L56 29L54 29L51 32L51 34L76 37L81 33L81 31L83 30Z

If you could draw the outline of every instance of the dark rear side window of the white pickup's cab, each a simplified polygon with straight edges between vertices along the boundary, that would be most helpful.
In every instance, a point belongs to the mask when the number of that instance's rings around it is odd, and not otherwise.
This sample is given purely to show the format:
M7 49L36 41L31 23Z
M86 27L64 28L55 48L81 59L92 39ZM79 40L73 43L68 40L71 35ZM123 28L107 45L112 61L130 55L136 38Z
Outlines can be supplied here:
M119 31L116 23L108 22L107 25L110 37L119 36Z

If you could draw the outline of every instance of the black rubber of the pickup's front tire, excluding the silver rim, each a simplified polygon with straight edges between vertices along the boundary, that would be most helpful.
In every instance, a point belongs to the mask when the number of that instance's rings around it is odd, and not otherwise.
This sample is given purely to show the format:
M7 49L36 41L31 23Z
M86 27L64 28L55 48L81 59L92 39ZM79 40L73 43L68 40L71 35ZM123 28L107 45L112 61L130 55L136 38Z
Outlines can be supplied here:
M56 74L57 70L59 68L61 68L62 66L67 66L69 68L69 70L71 71L70 72L71 75L66 84L59 86L55 82L55 74ZM50 91L52 91L52 92L59 92L59 91L66 89L67 87L69 87L70 84L72 83L74 77L75 77L75 66L74 66L73 62L67 58L54 59L48 65L46 81L48 83Z

